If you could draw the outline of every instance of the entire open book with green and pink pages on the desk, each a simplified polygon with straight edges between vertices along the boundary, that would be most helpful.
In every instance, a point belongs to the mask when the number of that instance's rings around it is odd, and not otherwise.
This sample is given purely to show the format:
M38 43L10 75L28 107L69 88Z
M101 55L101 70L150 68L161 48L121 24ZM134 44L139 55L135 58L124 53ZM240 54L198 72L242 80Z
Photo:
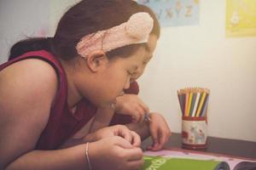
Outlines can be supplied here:
M144 152L142 170L252 170L256 160L211 154L193 150Z

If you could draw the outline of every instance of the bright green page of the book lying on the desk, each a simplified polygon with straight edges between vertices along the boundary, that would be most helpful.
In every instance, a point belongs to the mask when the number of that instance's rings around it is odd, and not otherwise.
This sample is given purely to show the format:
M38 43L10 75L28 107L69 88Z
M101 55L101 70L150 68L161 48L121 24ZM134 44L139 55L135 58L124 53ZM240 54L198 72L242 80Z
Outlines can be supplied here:
M143 156L142 170L230 170L225 161L206 161L161 156Z

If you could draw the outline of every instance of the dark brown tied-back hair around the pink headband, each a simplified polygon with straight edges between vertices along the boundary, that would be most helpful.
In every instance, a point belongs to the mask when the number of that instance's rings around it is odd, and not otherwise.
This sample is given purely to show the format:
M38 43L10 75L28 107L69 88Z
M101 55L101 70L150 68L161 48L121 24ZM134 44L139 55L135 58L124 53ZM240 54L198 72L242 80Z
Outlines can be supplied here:
M47 50L61 59L73 59L78 56L76 45L80 39L90 33L106 30L129 20L132 14L147 12L154 20L151 32L160 36L160 25L152 10L132 0L82 0L69 8L61 17L54 37L28 38L16 42L10 49L9 59L29 51ZM128 45L109 52L112 55L127 56L132 54L139 44Z

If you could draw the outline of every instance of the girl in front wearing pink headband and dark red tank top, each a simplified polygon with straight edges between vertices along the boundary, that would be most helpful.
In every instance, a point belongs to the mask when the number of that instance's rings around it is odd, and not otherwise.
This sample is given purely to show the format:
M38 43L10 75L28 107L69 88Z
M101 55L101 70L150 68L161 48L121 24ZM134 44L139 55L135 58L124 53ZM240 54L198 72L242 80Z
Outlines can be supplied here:
M129 88L155 26L143 8L84 0L62 16L54 37L11 48L0 66L0 169L142 166L140 138L124 126L84 133L64 148L96 108L109 108Z

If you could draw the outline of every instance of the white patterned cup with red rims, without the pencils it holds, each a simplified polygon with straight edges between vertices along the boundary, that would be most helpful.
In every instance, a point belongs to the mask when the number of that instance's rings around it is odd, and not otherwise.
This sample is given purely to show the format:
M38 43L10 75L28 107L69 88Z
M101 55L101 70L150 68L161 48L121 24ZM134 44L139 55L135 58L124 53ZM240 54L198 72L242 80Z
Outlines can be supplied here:
M185 149L207 148L207 117L182 118L182 147Z

